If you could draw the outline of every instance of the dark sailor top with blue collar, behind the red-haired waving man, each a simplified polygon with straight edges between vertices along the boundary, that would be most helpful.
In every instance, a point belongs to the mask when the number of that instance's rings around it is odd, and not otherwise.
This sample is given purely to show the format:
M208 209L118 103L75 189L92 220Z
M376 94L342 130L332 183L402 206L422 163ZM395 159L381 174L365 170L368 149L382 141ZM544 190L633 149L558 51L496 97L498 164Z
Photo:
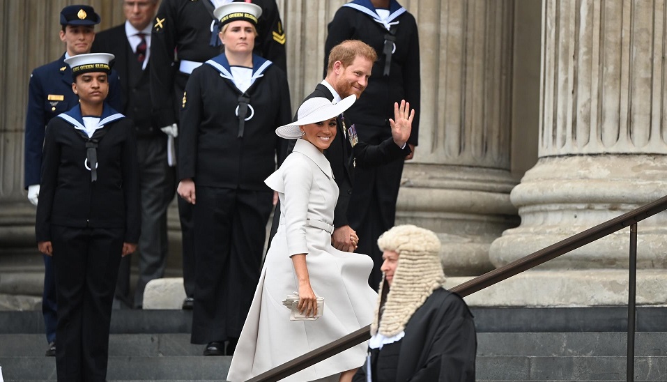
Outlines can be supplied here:
M345 115L364 126L357 129L360 140L376 144L391 137L388 119L394 118L394 102L405 99L410 102L410 107L415 109L408 144L417 146L421 110L417 23L413 15L406 12L395 0L391 1L390 12L395 17L390 16L390 22L396 23L393 26L396 29L395 50L391 55L389 75L384 75L386 59L383 49L388 31L381 22L375 20L378 16L374 9L370 0L355 0L337 10L328 25L324 68L326 71L332 47L344 40L362 40L373 47L378 54L378 61L373 65L368 86Z

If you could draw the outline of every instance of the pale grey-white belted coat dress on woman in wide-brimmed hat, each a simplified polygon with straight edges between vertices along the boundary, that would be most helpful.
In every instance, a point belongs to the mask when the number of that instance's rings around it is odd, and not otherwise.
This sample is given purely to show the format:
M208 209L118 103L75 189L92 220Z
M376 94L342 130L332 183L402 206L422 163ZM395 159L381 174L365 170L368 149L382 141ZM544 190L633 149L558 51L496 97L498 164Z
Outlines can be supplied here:
M309 226L312 220L332 224L338 199L338 186L323 153L297 139L293 152L265 183L278 192L284 208L231 361L227 375L231 382L247 381L369 325L378 296L368 286L370 257L336 250L330 232ZM290 321L290 310L282 305L288 294L298 291L290 256L302 253L307 254L313 291L324 298L323 315L314 321ZM282 381L330 376L337 381L337 374L365 362L366 350L366 342L353 346Z

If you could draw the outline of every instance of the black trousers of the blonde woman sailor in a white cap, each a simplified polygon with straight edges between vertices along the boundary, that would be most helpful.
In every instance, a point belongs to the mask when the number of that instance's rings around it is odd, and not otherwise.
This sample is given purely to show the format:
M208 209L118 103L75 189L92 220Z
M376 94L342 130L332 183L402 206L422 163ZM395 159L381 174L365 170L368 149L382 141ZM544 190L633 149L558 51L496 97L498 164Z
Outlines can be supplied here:
M197 186L193 344L237 339L259 281L273 191Z

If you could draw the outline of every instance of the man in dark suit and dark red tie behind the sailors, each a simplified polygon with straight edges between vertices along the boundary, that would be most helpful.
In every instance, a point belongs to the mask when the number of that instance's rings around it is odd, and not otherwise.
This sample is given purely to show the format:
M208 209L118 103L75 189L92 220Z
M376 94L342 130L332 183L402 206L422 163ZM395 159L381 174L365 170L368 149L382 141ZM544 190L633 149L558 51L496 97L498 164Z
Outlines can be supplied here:
M93 52L116 56L114 68L121 76L125 103L121 112L135 122L139 179L141 181L141 237L139 280L130 298L130 257L123 258L116 286L116 306L141 307L146 284L164 276L167 263L167 208L174 199L174 167L169 166L167 135L151 115L149 61L151 29L158 0L123 0L127 19L123 24L98 33Z

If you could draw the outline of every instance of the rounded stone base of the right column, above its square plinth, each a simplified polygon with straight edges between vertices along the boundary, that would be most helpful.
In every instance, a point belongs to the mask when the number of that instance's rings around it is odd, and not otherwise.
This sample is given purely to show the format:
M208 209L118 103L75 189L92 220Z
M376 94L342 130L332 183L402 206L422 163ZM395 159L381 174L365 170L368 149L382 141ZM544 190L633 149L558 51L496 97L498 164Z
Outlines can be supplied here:
M579 155L541 158L512 190L521 225L493 242L500 267L667 193L667 155ZM667 213L638 223L638 268L667 268ZM539 268L627 268L629 229L558 257Z

